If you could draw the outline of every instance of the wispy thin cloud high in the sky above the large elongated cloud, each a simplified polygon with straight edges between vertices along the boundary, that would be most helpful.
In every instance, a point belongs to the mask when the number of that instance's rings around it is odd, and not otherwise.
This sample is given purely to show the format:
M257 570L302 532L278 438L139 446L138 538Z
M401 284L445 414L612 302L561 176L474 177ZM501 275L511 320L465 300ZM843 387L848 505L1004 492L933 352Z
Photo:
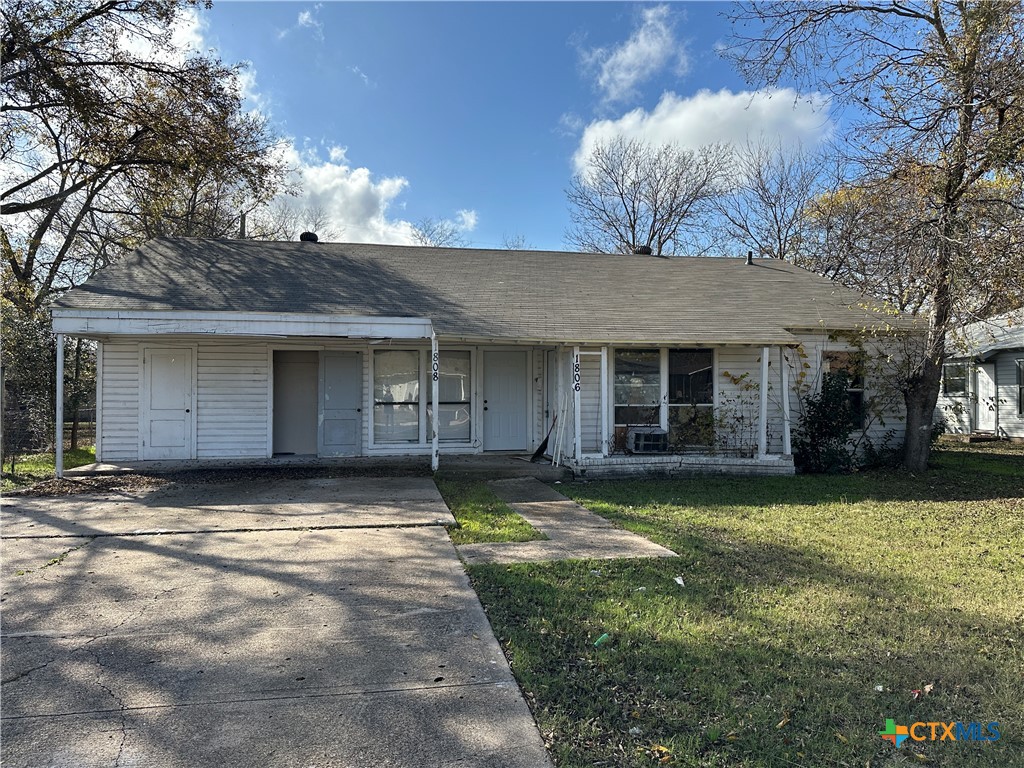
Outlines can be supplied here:
M597 86L608 102L630 98L638 85L675 62L677 74L689 67L682 43L676 40L668 5L644 8L639 26L616 48L584 53L584 62L598 69Z

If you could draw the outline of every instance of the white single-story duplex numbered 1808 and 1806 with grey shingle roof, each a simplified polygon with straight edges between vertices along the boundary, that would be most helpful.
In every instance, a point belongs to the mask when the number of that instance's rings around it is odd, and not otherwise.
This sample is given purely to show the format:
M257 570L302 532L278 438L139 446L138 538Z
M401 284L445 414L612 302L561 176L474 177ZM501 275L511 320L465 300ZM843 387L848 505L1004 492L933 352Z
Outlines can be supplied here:
M861 303L774 260L158 239L52 314L98 342L98 461L436 468L550 434L587 476L785 474L800 388L879 322Z

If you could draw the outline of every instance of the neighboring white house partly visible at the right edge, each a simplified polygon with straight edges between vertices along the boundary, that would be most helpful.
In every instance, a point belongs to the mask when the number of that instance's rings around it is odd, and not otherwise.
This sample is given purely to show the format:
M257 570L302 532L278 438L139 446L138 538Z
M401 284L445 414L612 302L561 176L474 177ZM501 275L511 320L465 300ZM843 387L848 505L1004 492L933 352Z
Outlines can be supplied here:
M951 434L1024 439L1024 308L950 339L935 420Z

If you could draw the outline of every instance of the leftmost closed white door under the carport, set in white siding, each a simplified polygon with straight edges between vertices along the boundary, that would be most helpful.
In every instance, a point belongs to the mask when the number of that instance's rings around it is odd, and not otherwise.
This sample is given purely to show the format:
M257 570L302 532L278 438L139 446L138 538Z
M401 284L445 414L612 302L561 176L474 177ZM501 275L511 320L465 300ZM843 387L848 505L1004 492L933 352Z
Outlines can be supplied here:
M193 350L146 347L142 459L193 458Z

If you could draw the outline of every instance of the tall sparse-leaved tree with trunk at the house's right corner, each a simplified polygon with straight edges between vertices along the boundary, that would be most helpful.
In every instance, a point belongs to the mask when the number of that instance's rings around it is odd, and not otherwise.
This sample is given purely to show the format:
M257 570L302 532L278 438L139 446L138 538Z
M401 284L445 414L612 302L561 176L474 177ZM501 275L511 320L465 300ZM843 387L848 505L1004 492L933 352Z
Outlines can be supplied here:
M903 464L924 470L947 334L979 303L975 292L985 304L1005 290L965 276L994 250L984 245L993 230L979 206L1020 210L1019 200L988 182L1019 175L1024 150L1022 4L751 3L733 22L735 30L754 30L737 33L731 49L750 80L792 78L857 105L862 118L850 143L861 186L885 189L894 178L912 185L910 203L888 200L902 209L892 221L901 241L920 244L920 258L906 259L905 268L915 272L927 323L902 382ZM1011 271L1022 269L1018 258ZM1009 281L1019 284L1019 276Z

